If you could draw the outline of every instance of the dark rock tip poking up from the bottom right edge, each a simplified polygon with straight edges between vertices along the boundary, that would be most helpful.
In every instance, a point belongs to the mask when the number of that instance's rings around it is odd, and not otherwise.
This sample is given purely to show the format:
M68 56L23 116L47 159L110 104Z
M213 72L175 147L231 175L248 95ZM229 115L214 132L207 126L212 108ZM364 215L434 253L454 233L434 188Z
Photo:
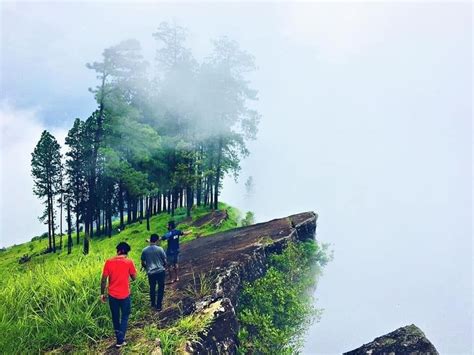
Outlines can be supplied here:
M412 324L375 338L344 355L438 355L438 351L420 328Z

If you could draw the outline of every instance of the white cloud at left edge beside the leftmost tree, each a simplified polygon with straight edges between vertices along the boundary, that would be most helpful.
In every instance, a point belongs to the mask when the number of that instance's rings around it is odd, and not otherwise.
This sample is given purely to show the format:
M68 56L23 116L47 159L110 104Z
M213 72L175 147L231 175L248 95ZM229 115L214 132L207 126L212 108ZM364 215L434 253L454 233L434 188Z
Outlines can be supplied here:
M31 152L46 129L38 119L38 109L19 109L0 102L0 246L18 244L41 234L38 221L43 207L33 195ZM65 130L51 133L60 144Z

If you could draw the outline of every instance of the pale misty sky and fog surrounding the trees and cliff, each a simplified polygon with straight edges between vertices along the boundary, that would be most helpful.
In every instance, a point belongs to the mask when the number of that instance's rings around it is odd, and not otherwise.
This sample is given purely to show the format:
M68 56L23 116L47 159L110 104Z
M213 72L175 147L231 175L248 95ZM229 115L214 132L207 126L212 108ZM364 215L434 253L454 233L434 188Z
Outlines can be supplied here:
M198 58L222 35L256 58L259 133L222 199L259 221L319 214L334 260L304 352L414 323L440 353L472 353L470 3L3 3L0 244L42 232L25 147L95 108L85 63L127 38L152 60L166 20Z

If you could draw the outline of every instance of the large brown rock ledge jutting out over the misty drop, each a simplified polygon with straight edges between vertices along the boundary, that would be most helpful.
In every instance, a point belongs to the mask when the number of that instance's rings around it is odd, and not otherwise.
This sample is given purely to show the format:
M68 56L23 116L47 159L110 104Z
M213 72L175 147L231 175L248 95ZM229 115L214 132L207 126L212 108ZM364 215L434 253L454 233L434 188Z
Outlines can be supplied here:
M314 239L316 220L314 212L305 212L184 244L180 280L173 284L170 302L180 307L164 309L160 325L183 315L208 315L210 326L198 342L188 342L186 351L235 354L239 330L235 306L243 282L263 276L269 255L281 252L289 241ZM200 297L198 291L204 283L210 285L211 292Z

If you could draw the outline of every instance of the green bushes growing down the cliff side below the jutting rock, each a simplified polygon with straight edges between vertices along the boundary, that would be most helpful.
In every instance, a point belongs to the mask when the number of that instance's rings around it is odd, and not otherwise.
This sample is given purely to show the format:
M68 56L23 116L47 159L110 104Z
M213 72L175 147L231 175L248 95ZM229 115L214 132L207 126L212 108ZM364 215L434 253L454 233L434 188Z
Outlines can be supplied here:
M291 242L270 258L264 277L244 285L237 310L241 329L239 352L291 354L320 311L309 290L330 259L328 245Z

